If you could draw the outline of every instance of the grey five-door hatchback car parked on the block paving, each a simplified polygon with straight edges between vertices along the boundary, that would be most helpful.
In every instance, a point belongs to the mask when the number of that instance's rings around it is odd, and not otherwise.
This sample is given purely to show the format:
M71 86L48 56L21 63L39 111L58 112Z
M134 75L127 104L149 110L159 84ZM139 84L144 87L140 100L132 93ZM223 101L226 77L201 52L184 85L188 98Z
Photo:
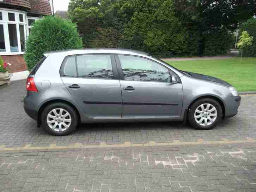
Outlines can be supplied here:
M59 136L98 122L188 121L206 130L236 115L241 100L223 80L127 49L46 52L26 88L26 113Z

